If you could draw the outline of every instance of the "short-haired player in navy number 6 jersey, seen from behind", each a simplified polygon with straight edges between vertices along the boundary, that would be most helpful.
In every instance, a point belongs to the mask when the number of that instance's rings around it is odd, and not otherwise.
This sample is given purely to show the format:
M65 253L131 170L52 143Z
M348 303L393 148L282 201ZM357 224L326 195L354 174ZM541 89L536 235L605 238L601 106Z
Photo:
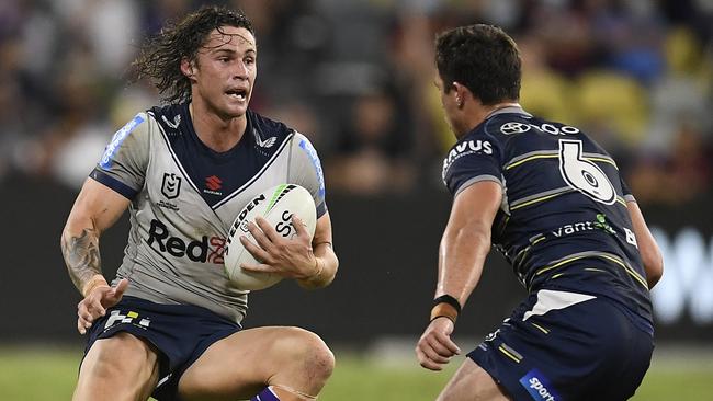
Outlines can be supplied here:
M520 107L520 55L500 28L439 35L435 62L457 142L443 161L454 200L421 366L461 352L451 334L491 245L528 290L439 400L629 399L654 348L663 262L616 163L578 128Z

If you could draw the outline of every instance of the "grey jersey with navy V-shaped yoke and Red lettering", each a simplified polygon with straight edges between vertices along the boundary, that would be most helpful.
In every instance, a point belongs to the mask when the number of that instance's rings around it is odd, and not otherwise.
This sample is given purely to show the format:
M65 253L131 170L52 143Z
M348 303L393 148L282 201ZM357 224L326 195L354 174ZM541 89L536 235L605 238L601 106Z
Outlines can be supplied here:
M228 229L256 195L281 183L307 188L326 213L321 167L309 140L248 112L234 150L200 141L186 104L139 113L120 129L90 175L131 199L131 231L117 272L126 295L207 308L240 322L247 293L227 279Z

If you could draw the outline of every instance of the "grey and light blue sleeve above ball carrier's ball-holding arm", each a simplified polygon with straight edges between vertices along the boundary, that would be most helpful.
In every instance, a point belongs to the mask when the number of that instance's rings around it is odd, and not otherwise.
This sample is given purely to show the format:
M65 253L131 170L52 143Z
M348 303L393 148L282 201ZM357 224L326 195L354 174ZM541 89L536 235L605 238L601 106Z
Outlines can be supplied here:
M291 160L287 177L291 183L304 186L317 206L317 218L327 211L325 202L325 176L317 151L304 135L295 133L291 144Z

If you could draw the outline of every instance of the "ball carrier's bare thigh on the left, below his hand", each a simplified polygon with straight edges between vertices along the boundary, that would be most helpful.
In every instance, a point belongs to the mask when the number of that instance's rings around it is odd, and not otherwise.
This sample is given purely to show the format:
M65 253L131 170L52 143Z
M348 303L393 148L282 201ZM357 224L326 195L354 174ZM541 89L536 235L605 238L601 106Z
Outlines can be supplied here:
M158 381L157 352L138 337L121 332L97 340L79 370L77 392L150 394Z

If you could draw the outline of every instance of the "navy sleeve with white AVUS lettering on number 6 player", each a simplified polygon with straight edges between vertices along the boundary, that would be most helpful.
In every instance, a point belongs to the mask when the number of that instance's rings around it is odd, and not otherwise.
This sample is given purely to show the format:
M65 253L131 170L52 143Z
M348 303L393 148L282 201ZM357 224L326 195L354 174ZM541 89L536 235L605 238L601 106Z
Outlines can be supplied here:
M443 183L453 197L480 181L505 186L500 154L498 144L491 139L459 141L443 160Z

